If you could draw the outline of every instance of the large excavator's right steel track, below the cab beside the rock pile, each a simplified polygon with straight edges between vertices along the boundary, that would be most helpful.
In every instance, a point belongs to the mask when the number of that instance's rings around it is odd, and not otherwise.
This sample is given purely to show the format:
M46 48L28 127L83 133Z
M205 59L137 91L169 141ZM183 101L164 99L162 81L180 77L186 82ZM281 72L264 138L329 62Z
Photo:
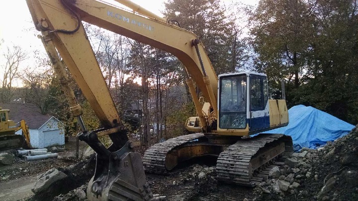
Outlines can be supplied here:
M292 139L283 134L259 134L239 140L220 153L217 179L253 187L268 176L267 169L283 164L276 160L285 151L292 151Z

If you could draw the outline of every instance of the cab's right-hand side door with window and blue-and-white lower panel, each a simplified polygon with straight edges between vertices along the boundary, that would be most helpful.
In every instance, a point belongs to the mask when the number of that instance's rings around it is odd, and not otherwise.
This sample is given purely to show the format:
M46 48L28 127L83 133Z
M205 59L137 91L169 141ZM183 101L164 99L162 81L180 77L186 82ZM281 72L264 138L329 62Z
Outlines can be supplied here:
M269 94L267 77L250 75L250 131L269 127Z

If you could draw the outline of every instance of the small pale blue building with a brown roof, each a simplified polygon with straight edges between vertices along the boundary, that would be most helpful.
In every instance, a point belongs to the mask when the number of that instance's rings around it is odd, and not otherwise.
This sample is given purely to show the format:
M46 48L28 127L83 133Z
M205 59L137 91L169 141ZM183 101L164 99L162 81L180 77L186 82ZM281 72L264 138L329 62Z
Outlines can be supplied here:
M34 148L45 148L65 144L63 123L53 116L42 115L38 107L32 104L0 104L9 109L9 119L15 123L25 120L30 132L30 142ZM16 134L21 134L21 130Z

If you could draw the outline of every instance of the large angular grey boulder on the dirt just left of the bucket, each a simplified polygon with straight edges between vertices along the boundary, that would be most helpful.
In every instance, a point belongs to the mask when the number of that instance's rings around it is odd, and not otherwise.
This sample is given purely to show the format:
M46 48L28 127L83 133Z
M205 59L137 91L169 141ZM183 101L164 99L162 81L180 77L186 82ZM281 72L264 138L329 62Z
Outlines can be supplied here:
M67 175L57 169L48 170L46 173L40 175L35 183L35 187L31 189L34 194L40 194L46 191L53 183L66 178Z

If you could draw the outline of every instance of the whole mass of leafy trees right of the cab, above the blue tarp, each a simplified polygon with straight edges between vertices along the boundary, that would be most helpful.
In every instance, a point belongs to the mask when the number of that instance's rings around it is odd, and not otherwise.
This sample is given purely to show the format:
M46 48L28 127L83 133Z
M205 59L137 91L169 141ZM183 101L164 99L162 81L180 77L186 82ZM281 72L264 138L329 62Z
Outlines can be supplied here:
M253 47L271 88L286 82L289 106L304 104L358 122L356 0L261 0Z

